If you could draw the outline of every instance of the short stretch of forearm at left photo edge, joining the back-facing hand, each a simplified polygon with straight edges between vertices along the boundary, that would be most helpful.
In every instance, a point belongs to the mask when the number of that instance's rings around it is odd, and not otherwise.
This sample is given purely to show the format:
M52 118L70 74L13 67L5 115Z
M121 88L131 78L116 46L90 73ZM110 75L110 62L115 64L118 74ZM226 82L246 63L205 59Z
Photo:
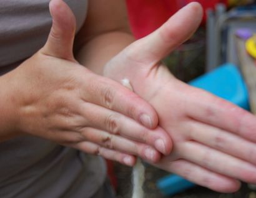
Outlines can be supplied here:
M15 84L11 73L0 77L0 142L14 138L19 134L17 131L18 115L16 99L19 98L14 92Z

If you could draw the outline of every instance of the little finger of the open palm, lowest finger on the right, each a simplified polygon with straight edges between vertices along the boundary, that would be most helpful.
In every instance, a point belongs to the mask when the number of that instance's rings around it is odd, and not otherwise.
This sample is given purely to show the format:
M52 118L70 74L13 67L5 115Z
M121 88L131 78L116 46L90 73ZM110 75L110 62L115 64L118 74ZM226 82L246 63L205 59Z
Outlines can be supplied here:
M240 188L240 182L236 179L217 174L182 159L170 161L169 163L164 160L162 163L157 163L157 167L165 171L179 174L185 179L212 189L213 191L231 193Z

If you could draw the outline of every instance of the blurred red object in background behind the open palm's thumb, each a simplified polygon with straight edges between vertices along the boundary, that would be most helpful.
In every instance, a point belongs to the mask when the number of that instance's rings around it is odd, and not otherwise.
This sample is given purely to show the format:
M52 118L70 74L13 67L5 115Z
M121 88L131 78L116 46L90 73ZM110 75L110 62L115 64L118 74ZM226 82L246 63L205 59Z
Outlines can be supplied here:
M137 39L144 37L160 27L181 7L195 0L127 0L130 26ZM206 11L215 4L228 0L197 0ZM205 16L204 16L205 22Z

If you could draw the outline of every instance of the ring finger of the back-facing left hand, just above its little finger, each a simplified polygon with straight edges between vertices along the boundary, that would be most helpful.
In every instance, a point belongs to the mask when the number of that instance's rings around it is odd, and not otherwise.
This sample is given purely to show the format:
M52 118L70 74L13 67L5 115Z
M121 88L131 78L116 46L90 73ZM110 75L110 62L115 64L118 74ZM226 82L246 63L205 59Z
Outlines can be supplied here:
M81 134L86 141L90 141L107 149L140 156L140 158L151 162L157 162L160 159L160 153L151 146L136 143L135 141L122 138L121 136L109 134L95 128L84 128Z

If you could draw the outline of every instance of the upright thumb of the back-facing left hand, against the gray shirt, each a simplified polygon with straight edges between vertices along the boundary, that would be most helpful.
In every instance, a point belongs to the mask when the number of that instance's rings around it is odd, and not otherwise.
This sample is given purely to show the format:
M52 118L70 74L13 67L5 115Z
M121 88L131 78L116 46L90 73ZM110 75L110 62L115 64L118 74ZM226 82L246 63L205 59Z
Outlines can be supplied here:
M60 59L74 61L73 44L76 18L65 2L52 0L49 4L52 16L51 32L42 53Z

